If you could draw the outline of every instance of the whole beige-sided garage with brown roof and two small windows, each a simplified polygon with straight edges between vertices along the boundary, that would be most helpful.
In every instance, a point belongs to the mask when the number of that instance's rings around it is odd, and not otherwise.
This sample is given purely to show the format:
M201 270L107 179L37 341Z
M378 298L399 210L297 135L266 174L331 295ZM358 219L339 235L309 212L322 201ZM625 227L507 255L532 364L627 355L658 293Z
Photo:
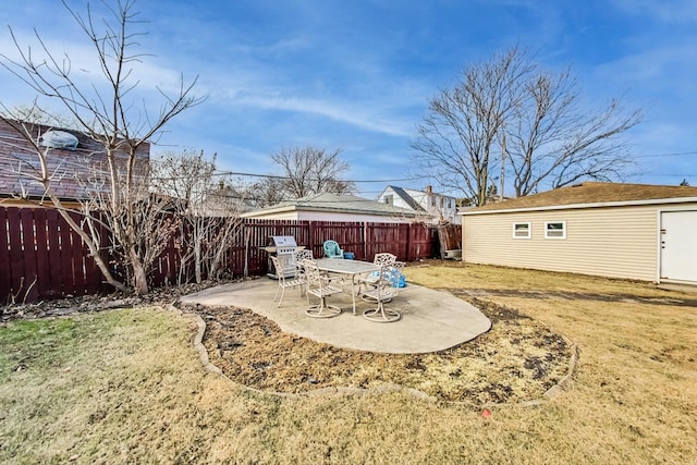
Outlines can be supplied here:
M697 284L697 187L586 182L462 215L466 262Z

